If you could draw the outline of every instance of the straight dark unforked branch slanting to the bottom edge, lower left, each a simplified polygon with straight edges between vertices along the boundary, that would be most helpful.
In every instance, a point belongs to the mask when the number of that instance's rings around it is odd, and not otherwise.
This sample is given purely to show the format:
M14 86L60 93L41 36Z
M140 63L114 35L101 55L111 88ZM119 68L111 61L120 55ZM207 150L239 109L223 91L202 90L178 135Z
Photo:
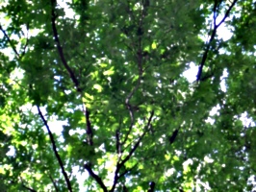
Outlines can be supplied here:
M39 114L39 116L40 116L44 126L46 127L48 134L49 134L49 137L50 137L50 140L51 140L51 144L52 144L52 148L53 148L54 154L55 154L55 156L56 156L56 158L57 158L57 160L58 160L58 162L60 164L60 167L62 169L62 172L63 172L63 175L64 175L64 180L65 180L66 186L68 188L68 191L72 192L72 186L71 186L70 180L68 179L67 174L66 174L66 172L64 170L63 160L62 160L61 156L59 155L59 153L57 151L57 146L56 146L56 142L54 140L53 133L51 132L51 130L50 130L49 126L48 126L47 121L45 120L44 116L42 115L42 113L40 111L40 108L38 106L37 106L37 108L38 108L38 114Z

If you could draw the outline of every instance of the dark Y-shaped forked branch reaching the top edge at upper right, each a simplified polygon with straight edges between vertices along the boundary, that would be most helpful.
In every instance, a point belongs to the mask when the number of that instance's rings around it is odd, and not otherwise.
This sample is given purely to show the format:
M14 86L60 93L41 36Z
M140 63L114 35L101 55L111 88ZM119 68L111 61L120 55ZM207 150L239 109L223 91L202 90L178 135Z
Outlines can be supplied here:
M203 53L203 57L202 57L202 60L200 62L200 65L199 65L199 68L198 68L198 72L197 72L197 76L196 76L196 82L199 82L201 81L201 76L202 76L202 71L203 71L203 67L205 65L205 61L207 60L207 56L208 56L208 53L210 51L210 48L211 48L211 44L213 42L213 40L215 39L215 36L217 34L217 30L218 30L218 27L226 20L226 18L229 16L229 13L231 12L232 8L236 5L236 3L238 2L238 0L234 0L233 3L229 6L227 12L225 12L225 15L223 16L223 18L220 20L220 22L217 24L217 17L218 17L218 0L215 1L215 5L214 5L214 29L213 29L213 32L212 32L212 35L210 37L210 40L207 42L207 45L206 45L206 48L205 48L205 51Z

